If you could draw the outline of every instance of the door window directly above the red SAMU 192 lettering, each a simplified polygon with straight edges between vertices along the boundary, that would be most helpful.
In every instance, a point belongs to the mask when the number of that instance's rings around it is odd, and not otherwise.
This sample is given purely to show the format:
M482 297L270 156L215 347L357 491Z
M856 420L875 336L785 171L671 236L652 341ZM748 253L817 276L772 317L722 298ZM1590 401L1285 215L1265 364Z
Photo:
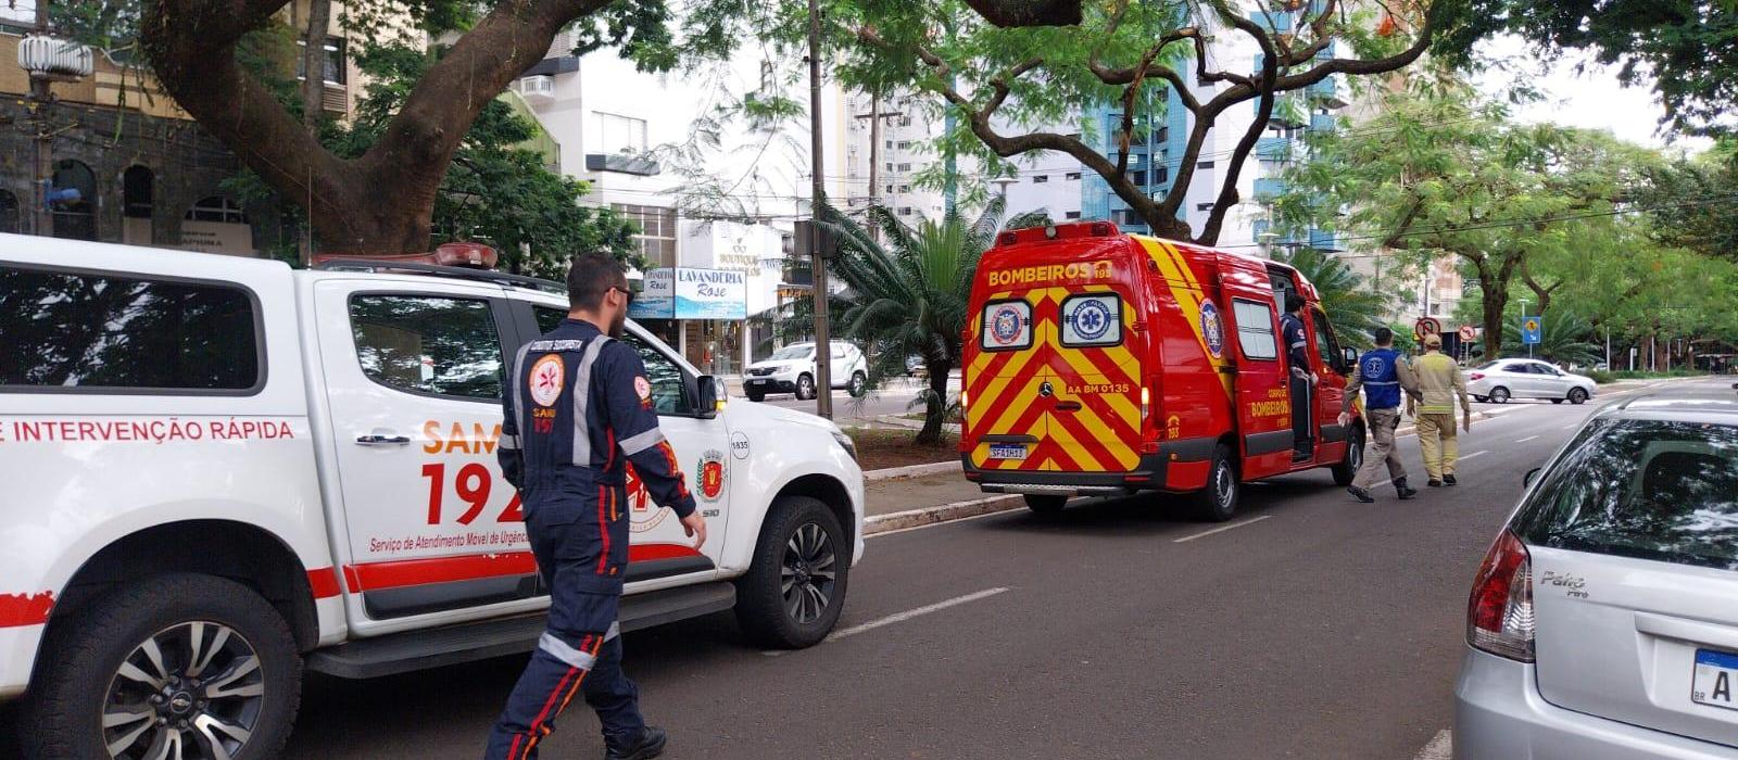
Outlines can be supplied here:
M501 403L501 333L487 300L365 293L349 302L349 326L370 380Z

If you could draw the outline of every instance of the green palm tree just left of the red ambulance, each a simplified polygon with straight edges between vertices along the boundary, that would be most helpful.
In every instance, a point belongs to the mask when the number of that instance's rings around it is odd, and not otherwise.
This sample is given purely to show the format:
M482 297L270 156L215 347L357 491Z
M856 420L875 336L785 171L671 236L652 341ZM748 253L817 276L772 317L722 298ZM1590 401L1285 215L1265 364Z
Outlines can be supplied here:
M975 220L949 210L940 220L905 226L883 206L869 208L869 224L881 229L885 243L824 205L820 224L838 243L833 276L846 286L827 304L839 337L872 351L869 383L904 375L905 357L921 356L930 387L923 430L916 442L937 444L947 422L947 377L959 366L966 328L966 300L978 257L994 243L1005 201L992 198ZM801 311L801 309L799 309Z

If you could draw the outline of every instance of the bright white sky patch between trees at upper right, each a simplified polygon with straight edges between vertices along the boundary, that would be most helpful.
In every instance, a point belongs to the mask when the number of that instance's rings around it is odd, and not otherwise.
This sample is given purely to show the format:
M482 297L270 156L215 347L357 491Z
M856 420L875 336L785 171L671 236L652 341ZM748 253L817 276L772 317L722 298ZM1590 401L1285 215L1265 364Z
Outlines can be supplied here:
M1651 87L1623 87L1616 66L1601 66L1590 56L1569 52L1554 64L1543 62L1517 36L1498 36L1484 42L1479 52L1489 57L1512 59L1509 73L1489 71L1479 78L1481 90L1498 92L1516 75L1540 75L1535 85L1547 95L1514 109L1521 121L1556 121L1562 125L1604 128L1616 137L1646 146L1672 146L1688 151L1707 149L1712 142L1702 137L1679 137L1667 142L1656 134L1665 106ZM1587 62L1583 73L1575 66Z

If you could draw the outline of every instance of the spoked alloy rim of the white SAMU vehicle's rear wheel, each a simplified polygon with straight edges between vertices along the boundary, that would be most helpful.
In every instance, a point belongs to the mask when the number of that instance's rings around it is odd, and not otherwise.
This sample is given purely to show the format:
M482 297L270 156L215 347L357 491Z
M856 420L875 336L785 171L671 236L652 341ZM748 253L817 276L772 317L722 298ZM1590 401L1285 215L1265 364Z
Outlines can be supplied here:
M111 760L229 760L266 704L266 673L235 628L177 623L122 659L103 701Z

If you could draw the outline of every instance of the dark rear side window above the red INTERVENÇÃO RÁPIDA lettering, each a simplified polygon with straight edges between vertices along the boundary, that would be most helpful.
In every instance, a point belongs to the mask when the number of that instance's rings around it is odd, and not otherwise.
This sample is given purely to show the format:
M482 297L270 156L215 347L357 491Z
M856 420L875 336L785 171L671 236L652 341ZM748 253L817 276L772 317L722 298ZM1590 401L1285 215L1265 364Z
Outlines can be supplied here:
M238 286L0 267L0 390L249 392L259 314Z

